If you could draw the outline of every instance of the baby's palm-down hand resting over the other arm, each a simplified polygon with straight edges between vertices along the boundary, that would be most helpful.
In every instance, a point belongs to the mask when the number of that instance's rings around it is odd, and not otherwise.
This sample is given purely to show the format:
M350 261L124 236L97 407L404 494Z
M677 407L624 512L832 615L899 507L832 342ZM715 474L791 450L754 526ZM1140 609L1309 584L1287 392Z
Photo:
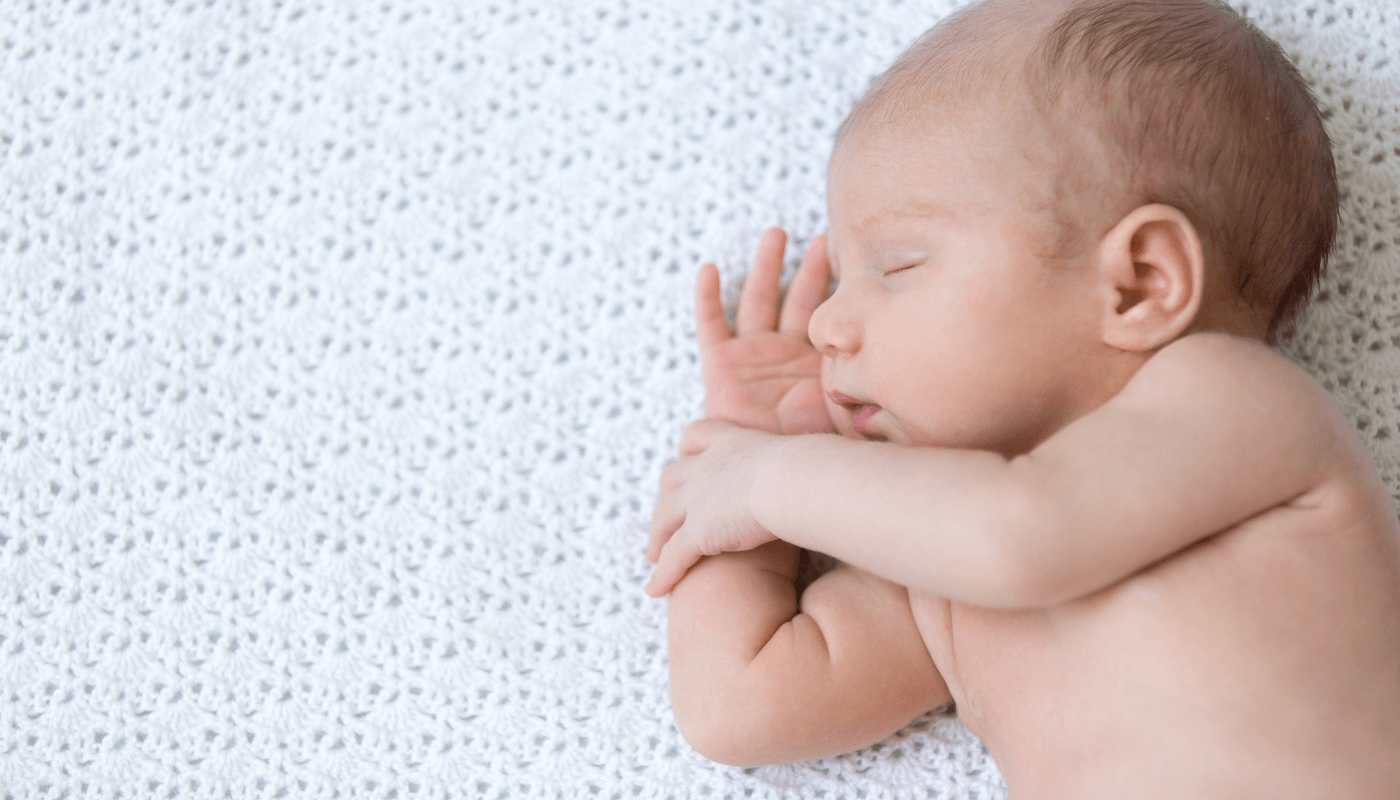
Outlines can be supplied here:
M647 594L671 591L701 556L748 551L776 537L753 518L749 493L757 462L781 437L718 420L690 423L680 458L661 472L647 560L657 572Z

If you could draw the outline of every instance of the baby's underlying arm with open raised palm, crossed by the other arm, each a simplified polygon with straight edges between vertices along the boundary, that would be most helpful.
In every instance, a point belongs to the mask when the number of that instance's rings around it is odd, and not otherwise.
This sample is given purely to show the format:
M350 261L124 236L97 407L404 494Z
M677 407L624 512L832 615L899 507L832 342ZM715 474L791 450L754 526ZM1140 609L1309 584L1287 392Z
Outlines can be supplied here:
M785 237L763 235L731 333L713 265L696 287L706 413L771 433L832 430L820 356L806 322L826 293L818 237L778 312ZM734 765L832 755L879 741L948 689L924 649L903 587L850 567L798 601L798 548L704 559L669 600L676 724L703 755Z

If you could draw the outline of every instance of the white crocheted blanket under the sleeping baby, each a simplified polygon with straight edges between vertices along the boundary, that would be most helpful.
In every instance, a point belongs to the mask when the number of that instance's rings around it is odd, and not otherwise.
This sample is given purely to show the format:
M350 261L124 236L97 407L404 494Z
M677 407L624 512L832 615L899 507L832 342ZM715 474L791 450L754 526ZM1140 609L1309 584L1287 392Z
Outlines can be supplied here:
M697 265L795 266L955 6L0 6L0 797L1004 796L935 717L706 761L641 593ZM1400 14L1249 13L1345 191L1284 350L1396 493Z

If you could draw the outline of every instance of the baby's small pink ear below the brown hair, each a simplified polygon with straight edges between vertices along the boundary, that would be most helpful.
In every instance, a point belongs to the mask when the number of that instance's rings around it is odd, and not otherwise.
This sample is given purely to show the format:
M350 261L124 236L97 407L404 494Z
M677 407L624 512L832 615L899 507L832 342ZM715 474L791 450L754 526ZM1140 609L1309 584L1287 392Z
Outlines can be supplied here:
M1196 319L1205 291L1205 256L1196 226L1180 210L1134 209L1099 241L1103 342L1155 350Z

